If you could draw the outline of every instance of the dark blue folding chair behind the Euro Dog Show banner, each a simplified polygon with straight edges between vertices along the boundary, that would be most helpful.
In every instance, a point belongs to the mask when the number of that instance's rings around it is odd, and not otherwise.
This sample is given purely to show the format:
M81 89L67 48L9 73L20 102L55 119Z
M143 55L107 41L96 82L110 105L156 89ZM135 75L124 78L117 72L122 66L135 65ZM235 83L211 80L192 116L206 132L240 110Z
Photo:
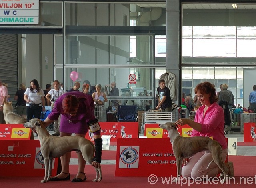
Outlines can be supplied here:
M117 107L118 122L136 122L137 106L120 105Z

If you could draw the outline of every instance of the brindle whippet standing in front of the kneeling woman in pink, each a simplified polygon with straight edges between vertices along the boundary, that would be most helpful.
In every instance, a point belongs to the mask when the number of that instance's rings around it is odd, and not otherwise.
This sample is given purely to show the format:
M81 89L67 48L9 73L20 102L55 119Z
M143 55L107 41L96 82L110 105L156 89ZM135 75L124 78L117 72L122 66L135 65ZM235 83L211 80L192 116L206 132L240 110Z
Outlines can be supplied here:
M160 124L159 126L162 129L168 130L170 142L172 144L172 150L176 158L177 178L175 178L173 182L178 182L179 180L183 159L189 158L194 154L204 150L209 150L213 158L213 160L208 164L207 168L209 168L212 162L215 162L223 172L224 178L221 180L221 182L225 182L228 175L228 168L222 161L222 146L216 140L212 140L211 138L203 136L195 136L191 138L182 137L178 133L177 125L173 122L167 122L166 124Z

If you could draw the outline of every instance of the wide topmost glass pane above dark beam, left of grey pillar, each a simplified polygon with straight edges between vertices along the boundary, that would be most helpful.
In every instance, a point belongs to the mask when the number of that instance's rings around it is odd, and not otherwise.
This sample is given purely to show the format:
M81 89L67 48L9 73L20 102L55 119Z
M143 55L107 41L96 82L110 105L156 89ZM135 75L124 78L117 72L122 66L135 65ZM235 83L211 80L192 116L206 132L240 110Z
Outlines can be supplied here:
M66 25L166 26L166 3L66 3Z

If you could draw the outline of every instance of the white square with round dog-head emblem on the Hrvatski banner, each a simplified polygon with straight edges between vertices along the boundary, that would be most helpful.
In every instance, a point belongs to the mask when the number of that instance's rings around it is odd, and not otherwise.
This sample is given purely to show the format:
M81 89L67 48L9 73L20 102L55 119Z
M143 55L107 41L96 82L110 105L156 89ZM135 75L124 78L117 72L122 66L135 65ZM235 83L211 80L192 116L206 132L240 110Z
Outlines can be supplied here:
M139 146L120 146L119 168L138 168L139 152Z

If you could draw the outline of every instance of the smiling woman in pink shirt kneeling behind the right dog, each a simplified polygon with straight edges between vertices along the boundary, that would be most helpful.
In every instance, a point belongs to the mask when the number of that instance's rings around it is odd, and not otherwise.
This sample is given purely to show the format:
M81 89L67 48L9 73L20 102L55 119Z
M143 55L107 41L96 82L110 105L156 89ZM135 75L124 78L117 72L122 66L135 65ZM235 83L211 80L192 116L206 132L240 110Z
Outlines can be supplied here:
M195 121L189 119L179 119L175 123L178 125L188 124L193 128L191 136L212 137L222 146L222 160L226 160L228 146L224 135L224 111L217 104L216 90L210 82L200 83L195 88L197 99L202 106L196 110ZM222 170L213 162L208 169L207 166L212 161L212 154L208 151L196 153L194 156L183 161L182 176L191 178L211 178L216 177ZM227 162L228 176L234 176L232 162Z

